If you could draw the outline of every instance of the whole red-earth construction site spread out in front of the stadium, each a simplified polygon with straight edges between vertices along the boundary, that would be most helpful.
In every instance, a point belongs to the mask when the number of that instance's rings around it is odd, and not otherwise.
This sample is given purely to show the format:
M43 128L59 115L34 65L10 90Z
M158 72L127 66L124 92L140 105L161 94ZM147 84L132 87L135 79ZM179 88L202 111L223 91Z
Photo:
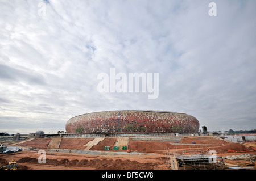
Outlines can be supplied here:
M256 142L218 136L45 137L6 142L23 150L1 154L20 170L223 170L253 169ZM45 151L45 162L39 163Z

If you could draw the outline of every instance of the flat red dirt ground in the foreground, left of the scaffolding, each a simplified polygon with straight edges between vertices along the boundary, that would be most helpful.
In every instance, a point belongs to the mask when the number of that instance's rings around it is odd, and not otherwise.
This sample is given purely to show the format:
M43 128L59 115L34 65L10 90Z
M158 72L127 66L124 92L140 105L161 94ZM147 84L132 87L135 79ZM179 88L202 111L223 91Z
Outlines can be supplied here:
M165 166L164 159L160 160L160 157L156 157L156 155L98 156L54 152L52 155L50 155L49 153L46 154L46 164L39 164L38 157L39 155L36 151L23 150L21 153L0 155L0 165L7 165L7 162L11 161L14 158L20 166L19 169L25 170L153 170Z

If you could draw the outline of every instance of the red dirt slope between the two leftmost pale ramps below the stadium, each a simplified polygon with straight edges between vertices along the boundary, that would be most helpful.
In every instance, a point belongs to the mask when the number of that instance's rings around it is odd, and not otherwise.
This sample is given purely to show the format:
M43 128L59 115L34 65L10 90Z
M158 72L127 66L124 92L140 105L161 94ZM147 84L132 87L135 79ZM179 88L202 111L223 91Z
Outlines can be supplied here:
M59 149L84 150L94 138L62 138Z

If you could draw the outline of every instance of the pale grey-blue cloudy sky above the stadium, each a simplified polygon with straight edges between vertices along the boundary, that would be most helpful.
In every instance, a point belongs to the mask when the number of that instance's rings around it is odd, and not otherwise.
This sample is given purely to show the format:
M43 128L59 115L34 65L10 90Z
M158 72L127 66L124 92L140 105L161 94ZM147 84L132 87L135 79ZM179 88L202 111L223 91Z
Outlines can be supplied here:
M188 113L209 131L255 129L255 7L255 0L0 0L0 132L65 131L71 117L108 110ZM98 74L111 68L159 73L158 98L148 99L148 90L99 92Z

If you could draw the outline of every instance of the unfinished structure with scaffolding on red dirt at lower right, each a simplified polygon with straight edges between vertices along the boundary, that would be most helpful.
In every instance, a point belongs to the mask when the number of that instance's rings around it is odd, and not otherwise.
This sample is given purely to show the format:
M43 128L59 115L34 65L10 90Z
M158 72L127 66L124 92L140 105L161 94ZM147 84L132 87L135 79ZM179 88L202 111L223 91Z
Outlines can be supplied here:
M175 151L168 148L164 153L166 166L171 170L215 170L218 166L217 159L222 158L203 148Z

